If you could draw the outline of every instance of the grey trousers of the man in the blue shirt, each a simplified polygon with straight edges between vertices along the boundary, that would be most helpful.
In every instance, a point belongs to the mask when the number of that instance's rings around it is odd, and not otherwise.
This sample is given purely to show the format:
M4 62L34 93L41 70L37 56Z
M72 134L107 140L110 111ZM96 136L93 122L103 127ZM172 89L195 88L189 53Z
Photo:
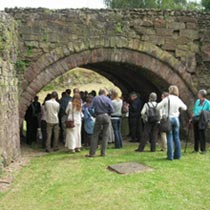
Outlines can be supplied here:
M99 135L102 130L102 145L101 145L101 155L106 155L106 148L109 140L109 126L111 120L108 114L102 114L96 116L95 126L93 135L90 143L90 155L95 155L96 149L98 147Z

